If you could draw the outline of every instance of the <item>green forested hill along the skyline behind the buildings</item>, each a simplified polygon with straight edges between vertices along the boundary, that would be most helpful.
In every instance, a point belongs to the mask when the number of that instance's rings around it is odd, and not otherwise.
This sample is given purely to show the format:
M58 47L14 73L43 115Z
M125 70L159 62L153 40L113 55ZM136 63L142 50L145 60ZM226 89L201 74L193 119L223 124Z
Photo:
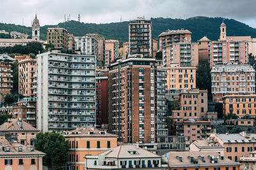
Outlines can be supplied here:
M172 18L151 18L154 38L158 39L158 35L168 29L188 29L191 31L192 40L197 41L203 36L211 40L217 40L220 36L220 24L224 20L227 25L227 36L252 36L256 38L256 29L233 19L225 18L208 18L193 17L186 20ZM40 21L40 18L39 18ZM71 20L69 22L61 22L58 25L44 25L40 29L40 38L46 39L47 27L64 27L74 36L84 36L86 33L97 32L106 39L118 39L119 41L128 40L128 24L129 22L116 22L110 24L88 24ZM14 24L0 24L0 30L17 31L31 35L31 27L24 27Z

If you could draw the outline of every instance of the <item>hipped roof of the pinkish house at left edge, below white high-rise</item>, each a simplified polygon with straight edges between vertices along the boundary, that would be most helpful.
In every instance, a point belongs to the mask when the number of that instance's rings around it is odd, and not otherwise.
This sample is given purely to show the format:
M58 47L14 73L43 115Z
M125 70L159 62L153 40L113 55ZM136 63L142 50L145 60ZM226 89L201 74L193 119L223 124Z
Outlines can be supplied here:
M37 131L38 129L31 126L24 120L21 120L19 118L11 118L8 122L5 122L4 124L0 125L0 132L12 132L12 131Z

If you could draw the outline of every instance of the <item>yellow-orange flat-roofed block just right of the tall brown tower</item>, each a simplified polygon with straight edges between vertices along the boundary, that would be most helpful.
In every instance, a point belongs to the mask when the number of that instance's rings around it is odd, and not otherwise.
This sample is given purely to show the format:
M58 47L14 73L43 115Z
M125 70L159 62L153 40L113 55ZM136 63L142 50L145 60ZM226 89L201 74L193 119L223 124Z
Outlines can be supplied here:
M196 88L196 67L171 64L163 69L166 69L166 97L169 101L179 96L180 90Z

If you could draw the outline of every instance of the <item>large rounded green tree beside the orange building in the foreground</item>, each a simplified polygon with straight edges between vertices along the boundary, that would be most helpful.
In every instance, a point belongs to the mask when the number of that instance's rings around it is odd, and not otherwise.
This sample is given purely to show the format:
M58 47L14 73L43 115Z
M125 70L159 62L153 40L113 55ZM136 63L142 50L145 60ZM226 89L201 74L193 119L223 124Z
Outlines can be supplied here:
M36 134L36 150L44 152L43 164L52 169L62 169L68 160L68 141L56 132L45 132Z

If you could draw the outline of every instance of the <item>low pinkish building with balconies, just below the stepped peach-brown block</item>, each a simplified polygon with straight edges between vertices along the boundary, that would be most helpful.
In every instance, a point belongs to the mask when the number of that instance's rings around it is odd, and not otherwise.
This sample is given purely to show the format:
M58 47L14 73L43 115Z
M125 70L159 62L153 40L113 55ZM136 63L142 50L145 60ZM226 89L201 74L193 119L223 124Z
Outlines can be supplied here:
M189 119L175 122L175 129L178 136L187 136L188 141L193 142L208 138L212 124L210 120Z

